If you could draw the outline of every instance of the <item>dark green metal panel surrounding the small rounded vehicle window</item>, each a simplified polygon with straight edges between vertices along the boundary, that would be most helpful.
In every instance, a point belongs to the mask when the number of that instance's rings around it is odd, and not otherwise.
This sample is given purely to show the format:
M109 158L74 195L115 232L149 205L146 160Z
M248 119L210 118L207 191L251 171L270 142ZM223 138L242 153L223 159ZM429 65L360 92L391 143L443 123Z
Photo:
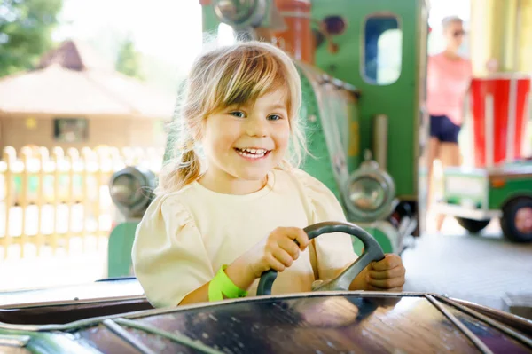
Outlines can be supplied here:
M356 3L356 4L355 4ZM323 20L326 16L340 15L347 23L345 32L332 36L339 51L332 54L326 43L317 48L316 64L330 75L351 83L361 90L360 97L360 149L371 148L372 117L386 114L389 117L387 169L395 180L398 195L415 196L417 186L417 147L419 144L419 80L423 68L419 67L421 41L420 20L423 1L389 0L314 0L312 17ZM402 71L395 83L374 85L367 83L361 69L363 57L364 21L379 13L393 13L403 32Z

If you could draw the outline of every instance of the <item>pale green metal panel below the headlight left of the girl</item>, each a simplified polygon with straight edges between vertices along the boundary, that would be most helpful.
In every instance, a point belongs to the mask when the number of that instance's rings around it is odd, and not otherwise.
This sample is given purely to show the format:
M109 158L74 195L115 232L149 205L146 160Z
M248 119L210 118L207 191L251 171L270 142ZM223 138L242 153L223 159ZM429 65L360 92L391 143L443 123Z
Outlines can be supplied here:
M107 277L126 277L132 275L131 249L135 240L135 231L139 220L118 224L111 235L108 244Z

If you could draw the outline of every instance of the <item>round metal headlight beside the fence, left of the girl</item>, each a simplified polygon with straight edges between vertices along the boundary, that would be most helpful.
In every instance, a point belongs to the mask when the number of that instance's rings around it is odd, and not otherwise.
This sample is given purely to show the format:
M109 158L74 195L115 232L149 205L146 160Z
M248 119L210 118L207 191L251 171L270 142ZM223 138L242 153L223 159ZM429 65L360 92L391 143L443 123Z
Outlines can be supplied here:
M153 200L154 188L155 174L137 167L115 172L109 183L111 199L126 217L143 216Z

